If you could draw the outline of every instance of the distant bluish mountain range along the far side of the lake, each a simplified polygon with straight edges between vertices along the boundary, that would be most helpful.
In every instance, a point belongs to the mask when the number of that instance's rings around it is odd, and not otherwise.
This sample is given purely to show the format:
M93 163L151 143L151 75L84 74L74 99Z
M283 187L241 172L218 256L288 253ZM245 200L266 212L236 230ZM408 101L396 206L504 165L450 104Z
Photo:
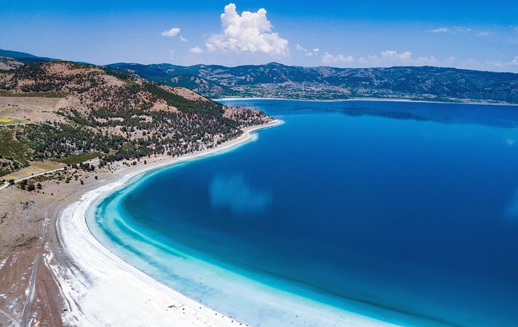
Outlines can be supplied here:
M184 85L212 98L375 97L518 103L518 74L506 72L481 72L445 67L297 67L276 62L238 67L219 65L184 67L122 62L109 66L131 70L164 84Z

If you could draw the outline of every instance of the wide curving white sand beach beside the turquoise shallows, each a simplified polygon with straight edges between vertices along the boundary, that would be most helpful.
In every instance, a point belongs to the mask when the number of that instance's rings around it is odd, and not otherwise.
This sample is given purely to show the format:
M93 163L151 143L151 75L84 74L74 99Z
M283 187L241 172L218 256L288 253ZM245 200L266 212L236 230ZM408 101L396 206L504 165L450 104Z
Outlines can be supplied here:
M233 318L223 316L176 292L111 253L91 233L85 215L100 196L123 187L133 177L235 148L250 140L254 131L280 123L282 121L274 120L260 126L243 128L243 135L216 148L125 168L94 187L79 192L79 201L63 200L64 203L57 209L59 213L53 228L54 238L60 248L56 249L56 254L61 252L70 262L65 265L62 265L63 262L60 265L50 263L55 251L45 257L69 306L62 315L63 323L81 326L142 326L150 321L157 325L175 321L176 326L235 326L233 323L237 321ZM140 309L128 311L128 308Z

